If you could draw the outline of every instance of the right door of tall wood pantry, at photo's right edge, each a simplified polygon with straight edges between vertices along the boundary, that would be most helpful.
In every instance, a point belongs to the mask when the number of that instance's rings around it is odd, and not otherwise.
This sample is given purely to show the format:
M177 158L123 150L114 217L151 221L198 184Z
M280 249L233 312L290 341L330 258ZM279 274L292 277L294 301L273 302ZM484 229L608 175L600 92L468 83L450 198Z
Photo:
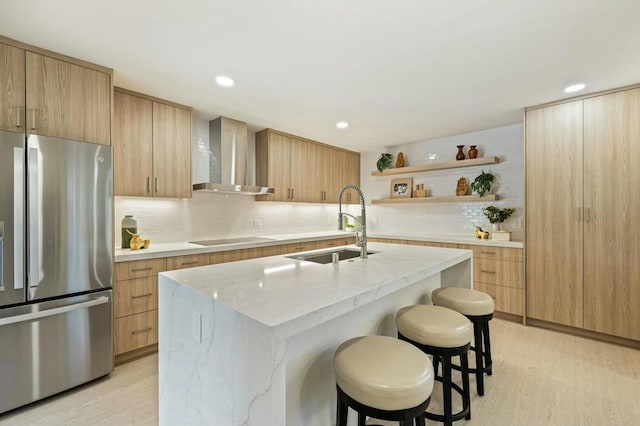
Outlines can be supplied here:
M640 89L584 101L584 326L640 340Z

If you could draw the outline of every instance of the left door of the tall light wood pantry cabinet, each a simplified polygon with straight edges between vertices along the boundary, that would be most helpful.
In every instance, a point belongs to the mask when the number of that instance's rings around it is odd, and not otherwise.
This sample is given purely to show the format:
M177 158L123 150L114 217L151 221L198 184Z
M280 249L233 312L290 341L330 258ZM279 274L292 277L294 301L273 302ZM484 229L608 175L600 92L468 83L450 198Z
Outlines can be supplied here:
M527 315L582 327L582 101L526 113Z

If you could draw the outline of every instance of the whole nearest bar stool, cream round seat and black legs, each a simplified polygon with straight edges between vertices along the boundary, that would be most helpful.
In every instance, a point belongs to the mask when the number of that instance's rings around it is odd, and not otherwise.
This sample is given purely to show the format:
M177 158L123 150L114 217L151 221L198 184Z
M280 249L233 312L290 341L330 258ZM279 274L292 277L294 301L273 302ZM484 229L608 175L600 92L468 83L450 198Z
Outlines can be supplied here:
M425 425L425 410L433 390L429 358L414 346L386 336L349 339L336 350L334 371L338 390L337 425L345 426L349 408L358 425L367 416Z

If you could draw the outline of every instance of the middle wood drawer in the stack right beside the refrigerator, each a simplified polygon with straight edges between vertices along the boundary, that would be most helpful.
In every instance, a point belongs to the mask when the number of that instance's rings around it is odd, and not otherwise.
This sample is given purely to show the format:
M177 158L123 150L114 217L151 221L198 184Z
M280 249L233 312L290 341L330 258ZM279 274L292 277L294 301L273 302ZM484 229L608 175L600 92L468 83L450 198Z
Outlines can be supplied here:
M113 286L115 318L158 309L158 277L116 281Z

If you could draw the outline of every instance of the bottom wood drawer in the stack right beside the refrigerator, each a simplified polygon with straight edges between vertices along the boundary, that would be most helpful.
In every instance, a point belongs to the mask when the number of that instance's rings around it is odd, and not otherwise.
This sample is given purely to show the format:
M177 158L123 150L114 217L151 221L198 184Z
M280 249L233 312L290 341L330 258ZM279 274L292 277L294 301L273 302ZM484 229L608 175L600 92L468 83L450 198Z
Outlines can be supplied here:
M158 343L157 310L116 318L114 327L116 355L155 343Z

